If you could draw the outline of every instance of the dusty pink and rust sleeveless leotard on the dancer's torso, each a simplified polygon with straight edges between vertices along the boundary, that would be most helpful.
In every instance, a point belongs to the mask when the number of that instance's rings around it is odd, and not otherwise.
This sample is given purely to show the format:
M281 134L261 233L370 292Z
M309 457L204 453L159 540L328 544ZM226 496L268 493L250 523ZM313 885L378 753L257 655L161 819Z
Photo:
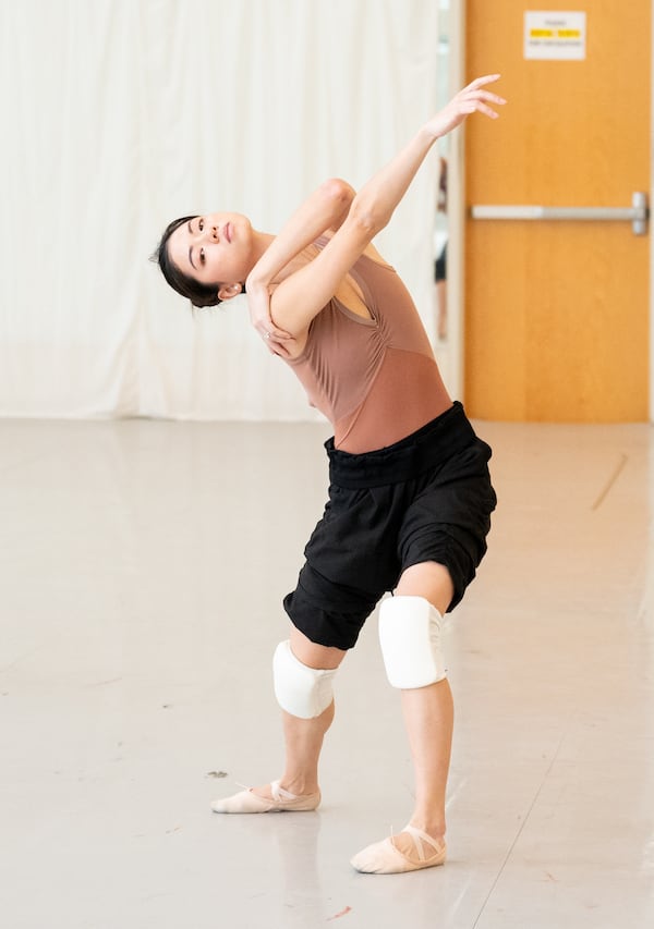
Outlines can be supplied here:
M391 445L452 404L395 269L362 255L350 274L371 318L334 297L312 320L302 353L286 360L331 423L335 447L359 454Z

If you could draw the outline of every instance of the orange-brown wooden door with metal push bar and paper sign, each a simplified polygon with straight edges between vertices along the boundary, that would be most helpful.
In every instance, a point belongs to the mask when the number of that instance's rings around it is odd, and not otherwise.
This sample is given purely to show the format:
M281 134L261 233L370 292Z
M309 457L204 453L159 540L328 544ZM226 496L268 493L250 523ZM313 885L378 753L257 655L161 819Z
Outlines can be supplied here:
M465 127L464 400L526 421L649 418L650 233L474 220L470 206L626 207L650 190L651 2L593 0L585 59L524 57L522 0L469 0L468 80L509 102ZM569 11L569 0L536 10Z

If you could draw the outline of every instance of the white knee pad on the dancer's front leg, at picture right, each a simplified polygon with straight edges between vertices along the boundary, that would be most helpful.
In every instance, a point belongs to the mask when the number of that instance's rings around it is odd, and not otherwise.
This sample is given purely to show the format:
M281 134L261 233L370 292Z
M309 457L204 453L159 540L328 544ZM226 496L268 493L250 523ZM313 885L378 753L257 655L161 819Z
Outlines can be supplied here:
M424 597L391 597L382 603L379 641L393 687L426 687L447 676L441 625L443 616Z

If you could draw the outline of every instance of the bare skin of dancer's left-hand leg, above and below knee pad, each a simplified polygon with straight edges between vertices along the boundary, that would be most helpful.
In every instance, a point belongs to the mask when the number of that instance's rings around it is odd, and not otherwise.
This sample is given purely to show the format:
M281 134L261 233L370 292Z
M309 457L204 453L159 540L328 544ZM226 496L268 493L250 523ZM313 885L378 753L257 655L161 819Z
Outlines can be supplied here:
M308 668L338 668L347 652L340 648L315 645L294 626L290 634L291 650ZM300 719L282 711L286 743L286 767L280 786L296 796L315 794L318 790L318 759L325 733L334 720L334 701L315 719ZM270 785L255 787L254 793L270 798Z

